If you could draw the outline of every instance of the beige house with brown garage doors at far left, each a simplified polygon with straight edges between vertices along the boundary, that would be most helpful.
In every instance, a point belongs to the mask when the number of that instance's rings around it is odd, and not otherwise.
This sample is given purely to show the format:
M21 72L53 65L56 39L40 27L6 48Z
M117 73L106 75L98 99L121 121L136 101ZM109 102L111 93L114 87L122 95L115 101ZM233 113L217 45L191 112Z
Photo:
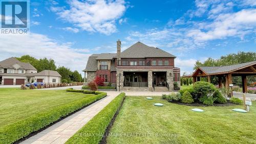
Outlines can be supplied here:
M28 62L20 62L11 57L0 61L0 85L20 85L31 82L60 83L57 71L37 69Z

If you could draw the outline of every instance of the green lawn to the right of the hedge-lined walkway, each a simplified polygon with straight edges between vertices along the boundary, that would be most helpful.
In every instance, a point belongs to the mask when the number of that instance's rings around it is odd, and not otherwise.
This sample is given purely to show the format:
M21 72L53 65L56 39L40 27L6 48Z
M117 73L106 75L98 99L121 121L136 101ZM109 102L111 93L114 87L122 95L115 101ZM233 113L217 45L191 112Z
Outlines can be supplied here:
M231 110L242 105L198 107L205 110L199 113L153 98L126 97L108 143L256 143L255 101L248 113Z

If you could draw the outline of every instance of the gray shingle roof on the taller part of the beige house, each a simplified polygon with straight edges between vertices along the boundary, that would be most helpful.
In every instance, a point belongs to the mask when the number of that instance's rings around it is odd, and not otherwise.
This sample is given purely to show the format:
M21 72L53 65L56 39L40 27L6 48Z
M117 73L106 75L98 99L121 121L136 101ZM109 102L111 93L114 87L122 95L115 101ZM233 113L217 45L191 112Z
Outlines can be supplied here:
M30 69L30 70L36 70L35 67L32 66L30 63L28 63L28 62L20 62L20 61L18 61L14 57L5 59L3 61L0 61L0 67L3 67L3 68L13 68L12 65L14 65L15 63L20 65L21 68Z

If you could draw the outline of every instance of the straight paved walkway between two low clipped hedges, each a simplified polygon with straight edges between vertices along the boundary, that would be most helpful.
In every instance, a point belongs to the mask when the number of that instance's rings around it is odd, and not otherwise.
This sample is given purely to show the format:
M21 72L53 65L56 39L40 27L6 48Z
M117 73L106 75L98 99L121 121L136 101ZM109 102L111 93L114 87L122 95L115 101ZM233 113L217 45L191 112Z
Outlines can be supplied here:
M90 119L108 105L120 92L108 92L108 96L62 119L60 122L24 140L22 143L65 143Z

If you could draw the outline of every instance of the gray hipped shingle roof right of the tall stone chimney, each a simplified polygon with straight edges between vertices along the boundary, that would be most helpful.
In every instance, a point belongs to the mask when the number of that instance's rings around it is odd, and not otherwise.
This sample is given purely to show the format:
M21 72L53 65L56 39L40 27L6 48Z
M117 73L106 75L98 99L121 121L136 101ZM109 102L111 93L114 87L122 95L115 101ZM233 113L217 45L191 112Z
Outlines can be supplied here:
M121 52L121 58L163 58L170 57L176 58L174 55L169 54L157 47L147 46L142 42L136 42L128 49Z

